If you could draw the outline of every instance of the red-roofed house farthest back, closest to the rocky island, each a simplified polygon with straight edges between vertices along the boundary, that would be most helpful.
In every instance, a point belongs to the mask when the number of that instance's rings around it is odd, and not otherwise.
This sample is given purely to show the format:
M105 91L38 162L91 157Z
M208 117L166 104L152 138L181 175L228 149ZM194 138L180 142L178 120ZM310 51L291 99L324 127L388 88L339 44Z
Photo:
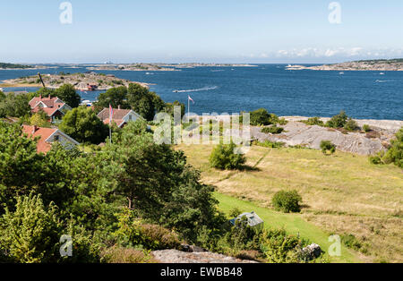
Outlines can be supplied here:
M72 110L72 107L64 103L63 100L56 97L51 98L50 95L47 98L42 98L42 96L32 98L30 108L32 108L32 113L43 110L51 122L55 122L56 119L62 119L67 110Z

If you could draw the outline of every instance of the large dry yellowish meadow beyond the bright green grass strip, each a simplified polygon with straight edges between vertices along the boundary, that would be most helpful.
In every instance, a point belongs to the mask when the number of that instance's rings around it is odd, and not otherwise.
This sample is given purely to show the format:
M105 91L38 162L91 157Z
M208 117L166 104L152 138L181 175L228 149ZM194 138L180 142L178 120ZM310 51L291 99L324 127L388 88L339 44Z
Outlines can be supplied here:
M288 220L287 229L299 229L304 221L325 236L354 234L361 246L356 252L361 261L403 261L403 172L399 167L373 166L366 157L339 151L324 156L313 149L253 146L246 154L248 169L219 171L209 166L212 148L178 146L189 163L201 170L202 181L217 186L220 194L271 211L275 192L296 190L303 197L304 209L293 215L299 218L294 224ZM282 214L270 214L273 222L277 216L281 217L277 222L285 219ZM319 236L311 237L312 232L303 229L300 233L317 243L314 239Z

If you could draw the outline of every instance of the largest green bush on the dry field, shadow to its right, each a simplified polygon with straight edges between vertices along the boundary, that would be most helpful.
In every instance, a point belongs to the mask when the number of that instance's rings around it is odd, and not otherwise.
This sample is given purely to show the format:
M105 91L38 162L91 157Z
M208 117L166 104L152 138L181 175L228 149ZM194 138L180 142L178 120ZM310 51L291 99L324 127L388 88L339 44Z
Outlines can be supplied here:
M241 168L246 162L242 154L236 154L236 144L219 144L210 155L210 166L223 170L234 170Z

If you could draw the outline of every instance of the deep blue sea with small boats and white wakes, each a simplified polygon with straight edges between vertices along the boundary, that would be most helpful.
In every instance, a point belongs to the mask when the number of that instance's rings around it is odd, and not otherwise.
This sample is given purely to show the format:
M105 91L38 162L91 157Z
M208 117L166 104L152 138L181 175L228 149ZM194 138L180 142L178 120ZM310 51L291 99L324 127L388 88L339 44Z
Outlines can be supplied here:
M87 72L58 67L42 73ZM0 81L34 75L38 70L0 70ZM196 67L178 72L99 71L151 83L167 102L186 104L193 113L236 113L260 107L276 115L332 116L340 110L358 119L403 120L403 72L287 71L285 64L257 67ZM10 89L6 89L10 90ZM21 89L19 89L21 90ZM28 89L35 90L35 89ZM99 91L82 93L95 100Z

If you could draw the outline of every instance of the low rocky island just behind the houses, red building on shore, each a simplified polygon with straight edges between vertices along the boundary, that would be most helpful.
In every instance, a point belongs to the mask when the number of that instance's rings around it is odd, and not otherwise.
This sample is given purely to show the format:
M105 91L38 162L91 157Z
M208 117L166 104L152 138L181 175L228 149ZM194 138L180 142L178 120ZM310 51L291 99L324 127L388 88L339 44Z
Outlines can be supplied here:
M78 90L111 89L119 86L128 86L130 83L137 83L144 87L149 86L146 83L120 79L112 74L95 72L44 74L42 75L42 79L48 88L53 89L59 88L64 84L72 84ZM0 84L0 87L42 87L42 84L39 76L34 75L5 80L3 84Z

